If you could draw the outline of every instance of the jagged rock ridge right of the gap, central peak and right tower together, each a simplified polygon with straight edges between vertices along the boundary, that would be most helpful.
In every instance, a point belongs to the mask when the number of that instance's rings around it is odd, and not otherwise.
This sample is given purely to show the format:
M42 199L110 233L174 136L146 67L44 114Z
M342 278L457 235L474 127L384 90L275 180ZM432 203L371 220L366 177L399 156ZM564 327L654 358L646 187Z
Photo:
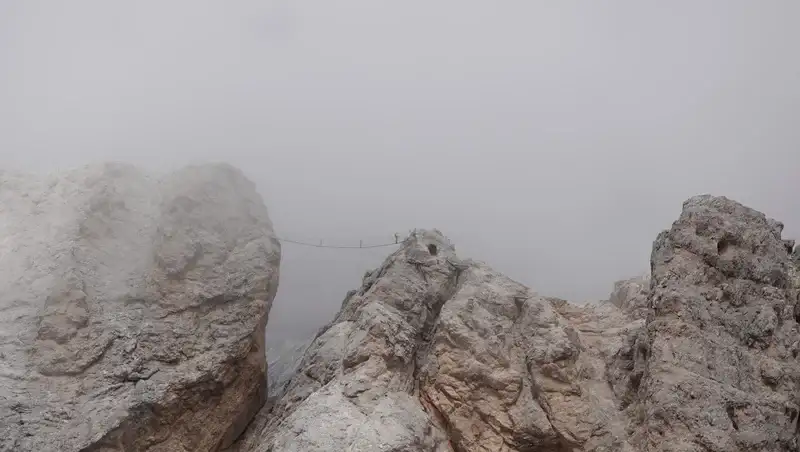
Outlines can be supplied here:
M412 236L233 450L797 451L800 278L781 228L692 198L652 276L583 306Z

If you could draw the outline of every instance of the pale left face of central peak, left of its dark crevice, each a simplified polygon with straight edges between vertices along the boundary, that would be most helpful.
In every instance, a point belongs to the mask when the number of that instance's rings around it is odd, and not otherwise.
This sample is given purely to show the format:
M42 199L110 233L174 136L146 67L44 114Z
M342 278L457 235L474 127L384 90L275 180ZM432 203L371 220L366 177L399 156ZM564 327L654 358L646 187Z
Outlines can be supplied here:
M234 450L448 450L415 386L425 335L460 268L440 234L408 240L348 294L283 397L259 413Z

